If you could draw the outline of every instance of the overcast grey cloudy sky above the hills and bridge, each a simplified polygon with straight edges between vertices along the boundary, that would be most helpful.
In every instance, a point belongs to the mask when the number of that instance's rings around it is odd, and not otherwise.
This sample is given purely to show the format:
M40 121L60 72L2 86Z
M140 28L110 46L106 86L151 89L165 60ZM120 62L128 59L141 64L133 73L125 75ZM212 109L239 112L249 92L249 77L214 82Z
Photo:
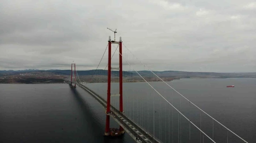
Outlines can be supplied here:
M256 72L254 0L0 0L0 19L0 70L96 69L109 27L152 70Z

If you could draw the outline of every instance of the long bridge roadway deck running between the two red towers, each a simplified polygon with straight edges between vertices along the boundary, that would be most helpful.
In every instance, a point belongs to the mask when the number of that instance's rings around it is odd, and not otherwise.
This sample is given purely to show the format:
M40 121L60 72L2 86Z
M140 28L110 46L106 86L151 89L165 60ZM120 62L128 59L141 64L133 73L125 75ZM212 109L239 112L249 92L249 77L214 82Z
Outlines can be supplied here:
M90 88L84 86L83 84L76 84L89 93L93 98L95 98L105 109L106 101L95 93ZM127 116L117 110L111 105L111 113L109 114L136 142L138 143L161 143L157 138L154 138L153 135L146 132L144 129L139 127L136 123L130 120Z

